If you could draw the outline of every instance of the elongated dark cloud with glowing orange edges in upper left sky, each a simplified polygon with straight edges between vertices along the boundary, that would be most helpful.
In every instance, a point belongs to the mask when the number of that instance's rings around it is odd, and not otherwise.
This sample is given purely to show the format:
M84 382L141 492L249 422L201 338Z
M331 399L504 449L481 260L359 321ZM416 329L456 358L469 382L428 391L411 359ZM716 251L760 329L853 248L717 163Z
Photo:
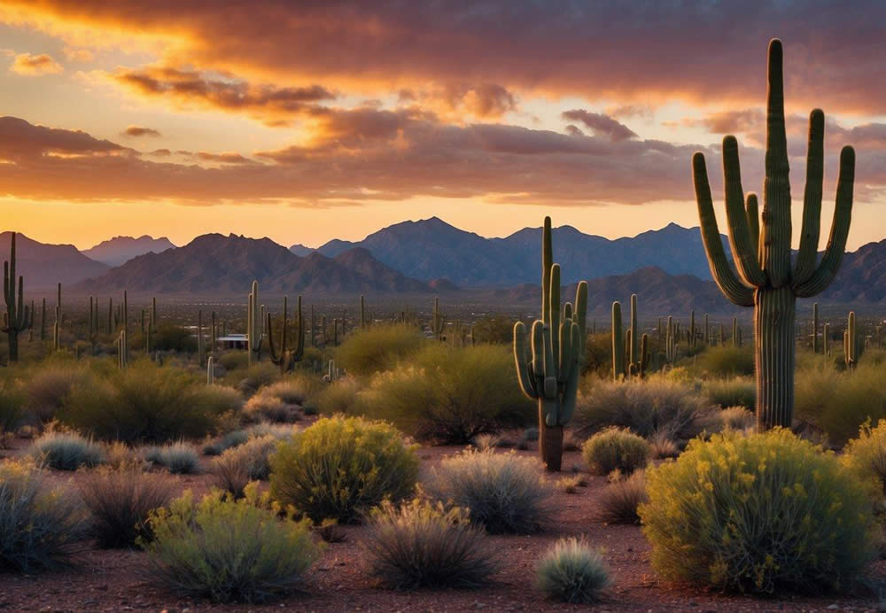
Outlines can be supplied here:
M250 113L276 124L310 113L317 103L336 97L319 85L278 88L247 83L229 74L206 74L168 66L120 68L107 76L144 97L165 98L182 107Z

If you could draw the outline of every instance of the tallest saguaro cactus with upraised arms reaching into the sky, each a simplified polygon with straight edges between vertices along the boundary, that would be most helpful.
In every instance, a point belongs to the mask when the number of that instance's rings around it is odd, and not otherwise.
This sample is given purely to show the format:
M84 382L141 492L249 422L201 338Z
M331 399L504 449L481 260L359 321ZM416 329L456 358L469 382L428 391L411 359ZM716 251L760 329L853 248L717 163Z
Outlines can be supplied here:
M791 269L790 184L783 89L781 41L773 39L769 44L766 95L766 182L762 228L759 226L757 197L749 194L747 201L744 198L738 143L734 136L723 139L729 245L738 276L730 268L720 243L704 156L698 152L692 158L698 215L711 275L735 305L754 307L757 424L761 431L775 426L790 427L794 411L796 301L823 291L840 267L849 234L855 175L855 151L843 147L828 248L817 263L825 119L819 109L812 111L803 229L797 264Z

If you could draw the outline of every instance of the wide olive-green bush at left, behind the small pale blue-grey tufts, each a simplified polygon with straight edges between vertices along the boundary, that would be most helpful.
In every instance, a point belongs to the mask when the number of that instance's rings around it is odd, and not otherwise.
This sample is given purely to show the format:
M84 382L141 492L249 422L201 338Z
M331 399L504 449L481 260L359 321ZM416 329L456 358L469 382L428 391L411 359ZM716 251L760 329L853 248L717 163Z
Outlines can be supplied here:
M214 430L236 399L180 369L140 361L89 385L74 386L63 423L105 440L161 443Z

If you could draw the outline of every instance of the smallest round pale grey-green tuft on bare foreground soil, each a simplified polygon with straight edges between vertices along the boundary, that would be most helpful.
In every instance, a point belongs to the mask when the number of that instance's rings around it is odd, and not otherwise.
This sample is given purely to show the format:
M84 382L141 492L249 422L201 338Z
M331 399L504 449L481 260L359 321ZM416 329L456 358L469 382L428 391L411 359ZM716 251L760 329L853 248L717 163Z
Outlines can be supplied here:
M609 569L599 551L584 539L560 539L548 549L538 569L542 592L557 601L589 604L610 585Z

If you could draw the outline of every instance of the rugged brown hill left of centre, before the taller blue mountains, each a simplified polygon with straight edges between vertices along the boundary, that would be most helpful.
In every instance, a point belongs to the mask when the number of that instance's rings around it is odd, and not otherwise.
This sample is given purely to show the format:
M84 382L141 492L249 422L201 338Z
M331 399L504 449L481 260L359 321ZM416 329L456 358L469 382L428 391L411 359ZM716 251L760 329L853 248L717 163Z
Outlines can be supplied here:
M365 250L336 259L313 252L301 258L269 238L206 234L161 253L146 253L95 279L83 291L430 291L424 283L385 267Z

